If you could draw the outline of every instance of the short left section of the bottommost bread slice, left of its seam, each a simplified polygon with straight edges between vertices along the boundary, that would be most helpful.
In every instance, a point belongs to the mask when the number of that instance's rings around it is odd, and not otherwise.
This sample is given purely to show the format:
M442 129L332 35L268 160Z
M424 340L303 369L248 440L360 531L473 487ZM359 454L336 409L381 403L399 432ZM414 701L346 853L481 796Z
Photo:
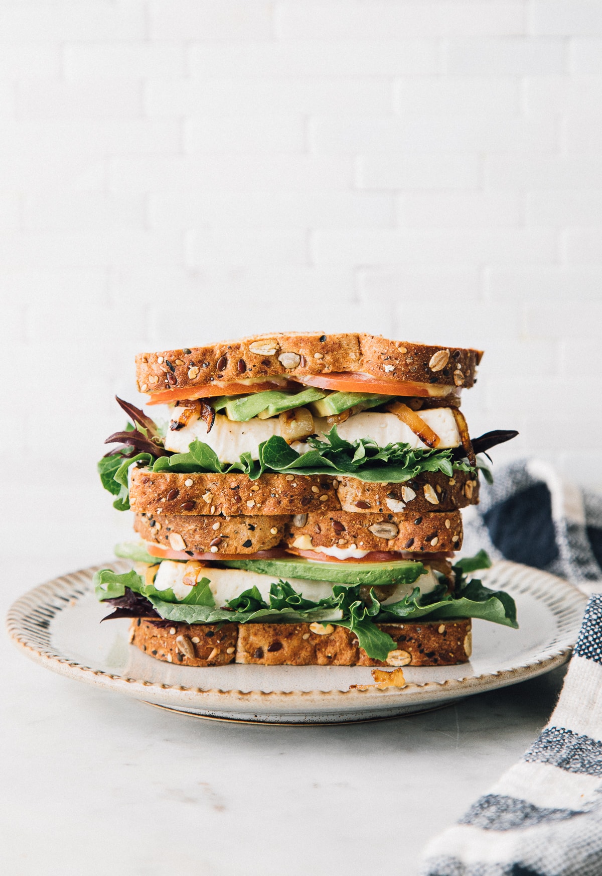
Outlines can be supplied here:
M238 624L161 624L134 618L130 644L182 666L225 666L235 659Z

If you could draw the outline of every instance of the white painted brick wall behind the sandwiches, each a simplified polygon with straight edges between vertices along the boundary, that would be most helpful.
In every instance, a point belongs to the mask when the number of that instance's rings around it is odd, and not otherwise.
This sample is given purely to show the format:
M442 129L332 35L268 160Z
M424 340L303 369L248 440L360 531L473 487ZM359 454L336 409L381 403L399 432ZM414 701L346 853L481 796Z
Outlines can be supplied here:
M371 329L602 484L601 144L600 2L0 0L5 452L92 472L137 350Z

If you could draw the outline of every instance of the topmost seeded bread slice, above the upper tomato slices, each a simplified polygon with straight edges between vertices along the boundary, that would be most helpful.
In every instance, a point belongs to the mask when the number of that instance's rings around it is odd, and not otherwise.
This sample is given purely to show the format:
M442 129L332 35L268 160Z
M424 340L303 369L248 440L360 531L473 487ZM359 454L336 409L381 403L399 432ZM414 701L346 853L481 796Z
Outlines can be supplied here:
M360 371L374 378L470 387L480 350L389 341L374 335L273 332L136 357L137 385L151 395L248 378L303 378Z

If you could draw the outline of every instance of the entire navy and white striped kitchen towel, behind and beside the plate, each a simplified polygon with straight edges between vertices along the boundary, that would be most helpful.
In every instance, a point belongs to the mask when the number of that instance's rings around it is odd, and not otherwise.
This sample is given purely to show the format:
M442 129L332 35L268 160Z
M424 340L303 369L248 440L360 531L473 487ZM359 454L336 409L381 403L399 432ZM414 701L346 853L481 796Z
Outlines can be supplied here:
M521 761L424 852L423 876L602 876L602 498L547 463L500 471L467 521L494 556L591 596L549 724ZM465 542L466 547L466 542Z

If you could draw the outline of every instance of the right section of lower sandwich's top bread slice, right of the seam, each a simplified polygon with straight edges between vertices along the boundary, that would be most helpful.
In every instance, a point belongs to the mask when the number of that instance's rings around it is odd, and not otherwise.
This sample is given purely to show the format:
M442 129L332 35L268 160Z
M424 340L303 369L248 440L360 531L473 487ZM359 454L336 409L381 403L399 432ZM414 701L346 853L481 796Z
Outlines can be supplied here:
M301 523L301 526L298 524ZM414 514L308 514L285 527L284 543L298 550L349 548L367 551L450 551L462 547L458 511Z

